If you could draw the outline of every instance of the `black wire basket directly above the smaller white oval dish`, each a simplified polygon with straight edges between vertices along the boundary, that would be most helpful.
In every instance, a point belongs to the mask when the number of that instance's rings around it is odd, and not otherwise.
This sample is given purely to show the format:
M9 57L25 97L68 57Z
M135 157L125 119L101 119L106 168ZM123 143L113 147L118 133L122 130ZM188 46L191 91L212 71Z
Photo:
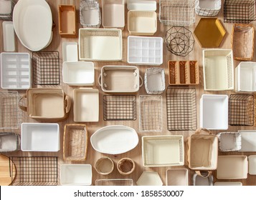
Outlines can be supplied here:
M103 119L105 121L136 120L136 96L103 96Z

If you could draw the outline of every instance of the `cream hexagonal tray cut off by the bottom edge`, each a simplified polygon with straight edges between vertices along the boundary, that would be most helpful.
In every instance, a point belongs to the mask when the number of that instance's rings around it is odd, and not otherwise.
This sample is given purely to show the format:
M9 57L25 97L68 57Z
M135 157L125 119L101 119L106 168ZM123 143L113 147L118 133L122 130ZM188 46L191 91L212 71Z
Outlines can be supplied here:
M162 186L163 181L156 171L143 171L136 184L137 186Z

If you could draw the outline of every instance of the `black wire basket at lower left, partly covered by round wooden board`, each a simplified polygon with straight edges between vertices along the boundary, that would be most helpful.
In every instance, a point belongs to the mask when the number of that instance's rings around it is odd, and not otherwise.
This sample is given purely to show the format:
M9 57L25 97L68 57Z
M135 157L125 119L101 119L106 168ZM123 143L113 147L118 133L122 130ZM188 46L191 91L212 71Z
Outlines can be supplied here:
M54 156L12 156L16 166L14 186L57 186L57 161Z

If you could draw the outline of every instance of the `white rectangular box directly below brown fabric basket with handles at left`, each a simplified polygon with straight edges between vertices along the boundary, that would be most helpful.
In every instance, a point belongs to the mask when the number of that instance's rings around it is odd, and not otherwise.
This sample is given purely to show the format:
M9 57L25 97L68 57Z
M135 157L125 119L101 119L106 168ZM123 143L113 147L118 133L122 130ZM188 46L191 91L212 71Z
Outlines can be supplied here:
M22 151L59 151L59 124L22 123Z

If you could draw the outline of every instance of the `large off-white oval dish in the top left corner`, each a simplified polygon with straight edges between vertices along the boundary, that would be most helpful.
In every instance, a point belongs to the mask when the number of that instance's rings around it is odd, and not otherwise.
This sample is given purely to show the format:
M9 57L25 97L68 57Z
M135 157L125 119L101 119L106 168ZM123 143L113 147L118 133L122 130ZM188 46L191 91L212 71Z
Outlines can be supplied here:
M52 41L52 11L44 0L19 0L13 12L14 30L27 49L39 51Z

